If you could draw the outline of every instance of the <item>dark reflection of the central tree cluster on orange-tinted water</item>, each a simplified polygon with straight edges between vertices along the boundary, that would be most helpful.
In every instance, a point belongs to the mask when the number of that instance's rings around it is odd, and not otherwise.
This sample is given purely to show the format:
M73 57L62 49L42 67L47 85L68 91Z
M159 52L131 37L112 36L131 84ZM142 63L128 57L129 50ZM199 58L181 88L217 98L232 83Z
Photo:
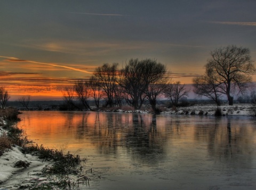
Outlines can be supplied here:
M80 120L69 119L76 123L76 138L90 140L100 154L118 155L125 150L133 159L147 163L164 156L167 136L157 131L155 115L86 113Z

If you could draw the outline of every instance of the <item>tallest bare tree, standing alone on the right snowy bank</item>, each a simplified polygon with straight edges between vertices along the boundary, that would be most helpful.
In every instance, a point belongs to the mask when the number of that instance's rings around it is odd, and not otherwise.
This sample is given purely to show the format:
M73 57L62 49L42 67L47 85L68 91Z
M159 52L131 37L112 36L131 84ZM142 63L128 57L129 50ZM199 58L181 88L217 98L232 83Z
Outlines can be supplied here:
M231 92L238 89L243 93L255 73L249 49L234 45L212 51L205 67L206 73L210 73L214 83L221 88L221 93L226 94L229 105L233 105Z

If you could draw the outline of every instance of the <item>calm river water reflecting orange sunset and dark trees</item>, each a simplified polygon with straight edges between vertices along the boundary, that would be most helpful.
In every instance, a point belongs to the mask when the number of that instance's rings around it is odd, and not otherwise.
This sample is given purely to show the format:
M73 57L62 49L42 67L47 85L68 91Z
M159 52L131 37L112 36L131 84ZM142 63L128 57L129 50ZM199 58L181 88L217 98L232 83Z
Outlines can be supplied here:
M256 119L23 111L18 126L88 159L85 189L255 189Z

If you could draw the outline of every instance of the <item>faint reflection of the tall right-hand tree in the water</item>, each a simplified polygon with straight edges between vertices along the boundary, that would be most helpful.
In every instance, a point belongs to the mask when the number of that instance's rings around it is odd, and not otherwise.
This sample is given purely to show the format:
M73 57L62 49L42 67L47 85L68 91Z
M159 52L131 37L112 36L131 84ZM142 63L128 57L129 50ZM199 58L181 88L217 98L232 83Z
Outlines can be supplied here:
M232 117L215 118L209 125L197 126L195 139L208 143L212 159L226 163L229 168L251 168L253 136L251 128L239 125Z

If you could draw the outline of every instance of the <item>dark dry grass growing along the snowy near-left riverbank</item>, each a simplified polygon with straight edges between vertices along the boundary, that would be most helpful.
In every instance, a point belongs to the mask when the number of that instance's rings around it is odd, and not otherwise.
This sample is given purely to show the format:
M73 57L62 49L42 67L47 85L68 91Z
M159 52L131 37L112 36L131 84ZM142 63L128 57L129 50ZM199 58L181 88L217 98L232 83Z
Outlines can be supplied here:
M19 129L15 123L19 121L19 111L14 108L0 110L0 118L5 120L2 122L2 128L7 133L0 136L0 156L6 149L11 149L11 145L19 145L22 153L29 153L38 156L43 161L49 161L42 169L42 177L34 178L21 184L21 188L26 189L80 189L81 184L89 183L89 177L83 174L83 167L86 159L81 159L78 155L63 153L62 150L54 150L44 148L43 145L35 144L29 141L28 137L22 129ZM14 163L14 167L29 167L29 163L18 161ZM92 172L92 170L91 170ZM30 184L29 186L24 186ZM23 186L23 187L22 187Z

